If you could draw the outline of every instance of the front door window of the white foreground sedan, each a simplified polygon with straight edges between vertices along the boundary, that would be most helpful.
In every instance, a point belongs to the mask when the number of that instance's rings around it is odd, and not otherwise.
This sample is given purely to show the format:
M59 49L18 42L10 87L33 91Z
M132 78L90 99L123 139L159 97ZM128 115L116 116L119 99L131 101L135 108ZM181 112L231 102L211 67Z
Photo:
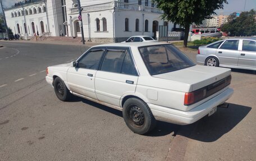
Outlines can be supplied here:
M77 67L86 68L90 70L98 70L99 61L104 51L105 50L103 49L91 50L89 53L87 53L83 58L79 60L79 62L77 63Z

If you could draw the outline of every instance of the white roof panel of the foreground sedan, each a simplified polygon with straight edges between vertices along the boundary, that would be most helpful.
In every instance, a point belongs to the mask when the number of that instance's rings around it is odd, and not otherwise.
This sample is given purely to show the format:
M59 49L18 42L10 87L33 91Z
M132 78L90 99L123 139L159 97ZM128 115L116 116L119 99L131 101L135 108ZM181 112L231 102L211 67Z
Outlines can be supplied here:
M150 43L143 43L143 42L112 43L112 44L95 45L93 47L146 47L146 46L163 45L163 44L170 44L170 43L159 43L159 42L150 42Z

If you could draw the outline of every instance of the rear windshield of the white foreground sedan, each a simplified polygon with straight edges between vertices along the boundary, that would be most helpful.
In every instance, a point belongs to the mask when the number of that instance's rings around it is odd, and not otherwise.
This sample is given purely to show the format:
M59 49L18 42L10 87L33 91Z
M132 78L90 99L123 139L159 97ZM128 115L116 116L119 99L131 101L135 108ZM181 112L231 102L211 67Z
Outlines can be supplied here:
M181 70L195 64L171 44L139 47L139 52L150 75Z

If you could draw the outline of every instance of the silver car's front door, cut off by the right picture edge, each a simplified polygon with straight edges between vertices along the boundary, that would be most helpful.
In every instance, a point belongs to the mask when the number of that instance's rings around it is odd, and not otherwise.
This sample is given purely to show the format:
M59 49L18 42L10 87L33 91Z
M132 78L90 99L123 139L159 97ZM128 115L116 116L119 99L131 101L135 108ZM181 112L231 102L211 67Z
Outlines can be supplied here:
M238 66L256 68L256 41L243 40Z

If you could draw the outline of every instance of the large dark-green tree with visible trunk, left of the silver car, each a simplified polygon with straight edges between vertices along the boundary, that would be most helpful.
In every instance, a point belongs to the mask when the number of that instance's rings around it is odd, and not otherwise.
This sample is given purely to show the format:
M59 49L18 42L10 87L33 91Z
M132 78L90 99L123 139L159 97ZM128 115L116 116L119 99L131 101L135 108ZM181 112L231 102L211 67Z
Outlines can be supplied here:
M223 9L227 0L154 0L154 3L163 10L162 19L185 27L183 44L187 47L190 25L199 25L204 19L211 19L211 15L216 15L214 11Z

